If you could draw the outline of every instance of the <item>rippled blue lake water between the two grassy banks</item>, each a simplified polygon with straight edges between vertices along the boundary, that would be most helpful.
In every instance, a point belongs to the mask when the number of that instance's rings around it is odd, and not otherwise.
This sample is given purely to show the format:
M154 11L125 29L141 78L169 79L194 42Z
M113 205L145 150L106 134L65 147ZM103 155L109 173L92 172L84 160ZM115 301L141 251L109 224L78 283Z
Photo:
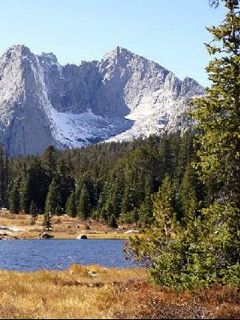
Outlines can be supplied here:
M62 270L71 264L128 268L123 240L1 240L0 269Z

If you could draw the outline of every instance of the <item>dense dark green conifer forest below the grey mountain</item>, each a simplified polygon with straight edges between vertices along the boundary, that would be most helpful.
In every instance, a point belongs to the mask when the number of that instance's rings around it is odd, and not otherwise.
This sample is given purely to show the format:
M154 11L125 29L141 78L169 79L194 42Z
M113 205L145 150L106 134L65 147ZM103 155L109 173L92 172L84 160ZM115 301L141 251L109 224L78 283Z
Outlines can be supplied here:
M181 219L206 201L193 157L191 131L61 152L49 146L42 156L18 159L6 159L1 149L0 205L13 213L145 225L152 220L153 195L168 176Z

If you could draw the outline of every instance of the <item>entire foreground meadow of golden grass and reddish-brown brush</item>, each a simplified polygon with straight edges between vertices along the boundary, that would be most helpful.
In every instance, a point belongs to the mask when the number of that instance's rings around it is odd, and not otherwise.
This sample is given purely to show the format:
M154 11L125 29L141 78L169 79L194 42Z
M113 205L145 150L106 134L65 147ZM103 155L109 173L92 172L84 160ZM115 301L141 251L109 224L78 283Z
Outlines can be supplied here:
M0 271L0 318L239 319L237 289L194 294L151 286L144 269L73 265L65 271Z

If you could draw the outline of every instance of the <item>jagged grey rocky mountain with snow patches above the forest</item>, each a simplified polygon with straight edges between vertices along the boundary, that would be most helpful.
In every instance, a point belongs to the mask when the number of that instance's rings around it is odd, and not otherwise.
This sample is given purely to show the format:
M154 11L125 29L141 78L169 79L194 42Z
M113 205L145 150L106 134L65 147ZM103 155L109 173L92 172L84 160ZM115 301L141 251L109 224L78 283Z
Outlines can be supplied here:
M11 156L182 129L204 94L159 64L117 47L101 61L61 66L16 45L0 58L0 141Z

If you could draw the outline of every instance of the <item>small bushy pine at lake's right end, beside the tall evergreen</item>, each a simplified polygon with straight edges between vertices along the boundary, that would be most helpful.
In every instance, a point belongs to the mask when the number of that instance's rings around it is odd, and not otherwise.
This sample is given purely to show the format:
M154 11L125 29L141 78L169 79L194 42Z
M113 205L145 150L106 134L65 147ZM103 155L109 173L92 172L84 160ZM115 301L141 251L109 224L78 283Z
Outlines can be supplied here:
M178 256L175 241L178 224L173 208L173 186L169 176L162 182L153 201L153 223L145 228L143 236L131 239L131 249L137 260L150 267L155 282L167 286L175 284Z

